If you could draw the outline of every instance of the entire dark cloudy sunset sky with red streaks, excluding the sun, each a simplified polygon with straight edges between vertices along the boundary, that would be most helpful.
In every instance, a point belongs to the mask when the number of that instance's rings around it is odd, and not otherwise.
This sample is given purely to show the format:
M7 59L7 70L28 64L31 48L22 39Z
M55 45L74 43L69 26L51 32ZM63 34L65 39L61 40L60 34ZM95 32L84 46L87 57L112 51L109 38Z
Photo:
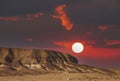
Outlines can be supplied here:
M0 0L0 47L50 49L120 68L120 0ZM74 42L84 51L75 54Z

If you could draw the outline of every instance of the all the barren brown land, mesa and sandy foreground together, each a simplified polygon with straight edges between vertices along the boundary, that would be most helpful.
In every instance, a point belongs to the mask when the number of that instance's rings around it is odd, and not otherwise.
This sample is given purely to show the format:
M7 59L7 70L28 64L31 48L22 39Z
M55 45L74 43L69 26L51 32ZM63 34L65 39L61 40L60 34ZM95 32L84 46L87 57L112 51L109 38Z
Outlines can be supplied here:
M120 71L81 65L58 51L0 48L0 81L120 81Z

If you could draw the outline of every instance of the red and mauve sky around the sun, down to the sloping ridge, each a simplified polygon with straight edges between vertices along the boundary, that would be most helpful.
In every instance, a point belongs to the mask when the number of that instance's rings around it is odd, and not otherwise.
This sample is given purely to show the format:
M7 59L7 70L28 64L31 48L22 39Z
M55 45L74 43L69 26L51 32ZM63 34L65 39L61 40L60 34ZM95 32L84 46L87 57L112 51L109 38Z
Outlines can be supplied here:
M75 42L81 42L84 45L84 50L81 53L74 53L72 51L72 44ZM86 45L82 41L65 41L54 42L54 44L60 46L57 49L65 53L69 53L79 59L80 64L88 64L103 68L119 68L120 48L96 48Z

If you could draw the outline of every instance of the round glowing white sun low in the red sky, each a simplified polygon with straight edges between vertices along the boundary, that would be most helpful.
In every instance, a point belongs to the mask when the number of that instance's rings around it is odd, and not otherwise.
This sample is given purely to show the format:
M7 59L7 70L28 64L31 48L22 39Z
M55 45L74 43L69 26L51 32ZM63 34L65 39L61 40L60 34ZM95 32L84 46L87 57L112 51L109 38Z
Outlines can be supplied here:
M81 53L83 50L84 50L84 46L83 46L82 43L80 43L80 42L73 43L73 45L72 45L72 51L74 53Z

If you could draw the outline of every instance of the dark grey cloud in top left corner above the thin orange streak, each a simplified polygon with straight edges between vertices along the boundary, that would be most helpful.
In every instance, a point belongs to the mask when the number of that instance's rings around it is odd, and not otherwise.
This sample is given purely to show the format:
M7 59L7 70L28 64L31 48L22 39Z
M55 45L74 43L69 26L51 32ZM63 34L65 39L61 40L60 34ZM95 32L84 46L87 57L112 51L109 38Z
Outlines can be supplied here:
M0 0L0 16L51 13L56 6L67 2L69 0Z

